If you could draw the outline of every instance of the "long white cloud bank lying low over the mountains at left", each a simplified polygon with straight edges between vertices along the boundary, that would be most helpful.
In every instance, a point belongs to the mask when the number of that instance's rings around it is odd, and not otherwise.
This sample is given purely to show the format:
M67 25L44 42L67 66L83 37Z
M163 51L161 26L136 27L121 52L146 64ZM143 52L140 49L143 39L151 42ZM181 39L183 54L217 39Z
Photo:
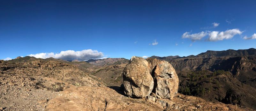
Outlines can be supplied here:
M56 59L63 59L63 60L79 60L79 61L86 61L89 59L99 59L103 58L103 53L98 52L97 50L86 49L82 51L74 51L74 50L66 50L61 51L60 53L38 53L38 54L30 54L28 56L33 56L36 58L49 58L53 57Z

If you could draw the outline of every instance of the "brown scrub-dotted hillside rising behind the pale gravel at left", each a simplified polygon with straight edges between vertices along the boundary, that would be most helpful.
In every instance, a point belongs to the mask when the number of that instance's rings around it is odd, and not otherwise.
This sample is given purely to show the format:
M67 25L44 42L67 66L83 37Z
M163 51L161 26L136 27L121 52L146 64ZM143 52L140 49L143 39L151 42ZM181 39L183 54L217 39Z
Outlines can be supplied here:
M68 64L68 62L54 58L21 57L1 62L0 69L2 74L8 73L8 76L41 76L54 78L69 84L80 83L82 86L103 85L97 77L81 71L74 65Z

